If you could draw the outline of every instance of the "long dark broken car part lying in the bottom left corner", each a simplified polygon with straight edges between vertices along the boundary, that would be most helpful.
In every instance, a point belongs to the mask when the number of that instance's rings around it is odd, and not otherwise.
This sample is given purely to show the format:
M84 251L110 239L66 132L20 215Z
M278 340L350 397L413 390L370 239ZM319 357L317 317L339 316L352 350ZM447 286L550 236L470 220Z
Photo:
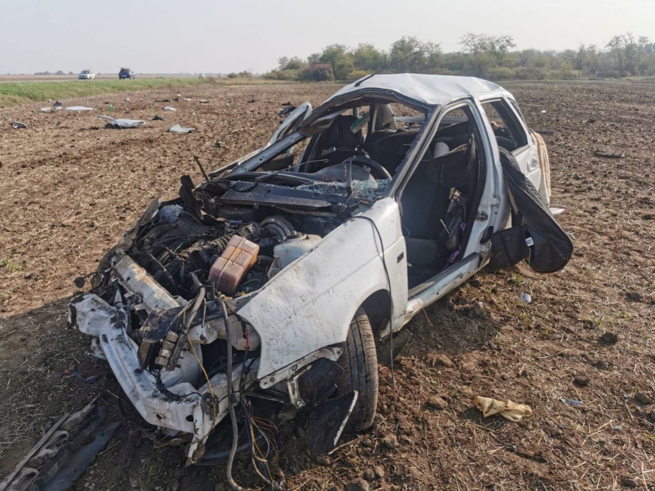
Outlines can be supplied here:
M98 397L65 414L0 482L0 491L70 489L119 427L120 422L105 424L106 417Z

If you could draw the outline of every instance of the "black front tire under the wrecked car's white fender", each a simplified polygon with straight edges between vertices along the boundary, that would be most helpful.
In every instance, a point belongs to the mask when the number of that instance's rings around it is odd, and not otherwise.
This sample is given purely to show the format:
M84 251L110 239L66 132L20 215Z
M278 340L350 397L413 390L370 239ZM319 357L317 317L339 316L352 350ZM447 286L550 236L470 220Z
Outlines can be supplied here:
M337 382L337 395L353 390L359 393L346 429L364 431L373 424L377 408L378 381L375 338L363 308L355 313L350 322L339 365L343 368L343 374Z

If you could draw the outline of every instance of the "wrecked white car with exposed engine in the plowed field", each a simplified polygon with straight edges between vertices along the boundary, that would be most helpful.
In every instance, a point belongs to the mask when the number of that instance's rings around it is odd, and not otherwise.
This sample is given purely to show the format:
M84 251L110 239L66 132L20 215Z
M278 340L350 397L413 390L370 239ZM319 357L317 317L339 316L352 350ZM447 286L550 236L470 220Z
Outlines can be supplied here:
M544 142L496 84L374 75L284 112L265 148L153 202L70 304L189 463L296 417L326 451L371 426L378 357L424 306L487 263L572 253Z

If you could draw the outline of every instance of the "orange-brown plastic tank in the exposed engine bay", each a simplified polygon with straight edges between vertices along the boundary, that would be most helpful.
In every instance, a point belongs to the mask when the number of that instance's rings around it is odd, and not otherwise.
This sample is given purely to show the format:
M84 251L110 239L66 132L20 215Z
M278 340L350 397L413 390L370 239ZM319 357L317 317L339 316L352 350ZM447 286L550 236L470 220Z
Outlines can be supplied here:
M218 291L233 295L238 284L257 261L257 254L259 245L233 235L221 257L216 259L209 270L210 283L216 283Z

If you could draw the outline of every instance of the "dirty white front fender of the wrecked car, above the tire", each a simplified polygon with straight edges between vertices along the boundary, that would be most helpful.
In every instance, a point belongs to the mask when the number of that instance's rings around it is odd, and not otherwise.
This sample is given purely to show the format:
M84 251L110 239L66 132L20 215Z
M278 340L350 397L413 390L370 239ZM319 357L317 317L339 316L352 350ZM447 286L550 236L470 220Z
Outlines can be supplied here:
M375 221L395 306L393 323L402 323L407 303L407 262L398 204L379 200L362 213ZM398 261L398 257L403 259ZM362 218L346 221L274 276L237 314L262 340L260 380L306 354L346 338L356 310L371 293L388 290L380 239Z

